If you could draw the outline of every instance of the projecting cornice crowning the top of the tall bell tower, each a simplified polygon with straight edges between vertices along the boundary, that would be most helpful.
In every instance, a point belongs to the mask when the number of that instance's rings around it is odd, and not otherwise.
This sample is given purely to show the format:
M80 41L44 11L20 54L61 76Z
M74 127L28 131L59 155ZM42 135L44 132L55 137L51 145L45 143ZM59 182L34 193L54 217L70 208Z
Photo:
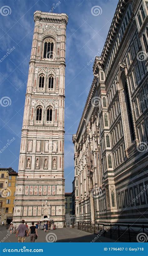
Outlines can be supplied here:
M65 23L67 25L68 16L65 13L44 13L36 11L34 13L34 21L37 20L53 23Z

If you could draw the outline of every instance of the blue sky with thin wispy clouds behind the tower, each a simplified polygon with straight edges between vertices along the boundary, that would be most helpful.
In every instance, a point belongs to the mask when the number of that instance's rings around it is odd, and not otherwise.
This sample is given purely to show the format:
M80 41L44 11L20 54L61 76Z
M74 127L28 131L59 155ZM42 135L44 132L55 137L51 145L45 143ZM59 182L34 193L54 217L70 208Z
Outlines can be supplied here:
M117 0L5 0L0 1L0 167L18 171L22 119L28 68L34 29L33 13L37 10L69 16L66 41L65 81L65 191L72 191L74 178L74 148L76 133L86 98L91 87L92 66L101 49L114 16ZM9 15L2 15L2 6L9 6ZM99 6L99 15L91 8ZM96 13L97 14L97 13ZM13 48L3 59L8 49ZM9 97L7 107L3 97ZM5 102L6 103L6 102ZM7 148L3 149L8 141Z

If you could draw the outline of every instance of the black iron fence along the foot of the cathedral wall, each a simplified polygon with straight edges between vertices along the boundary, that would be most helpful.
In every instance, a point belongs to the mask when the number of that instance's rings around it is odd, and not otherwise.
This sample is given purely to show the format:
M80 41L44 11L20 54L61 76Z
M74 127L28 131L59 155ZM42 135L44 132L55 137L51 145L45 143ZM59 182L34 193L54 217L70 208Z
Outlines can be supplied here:
M78 229L94 234L100 233L116 241L135 242L143 239L142 242L145 242L148 238L148 225L78 222Z

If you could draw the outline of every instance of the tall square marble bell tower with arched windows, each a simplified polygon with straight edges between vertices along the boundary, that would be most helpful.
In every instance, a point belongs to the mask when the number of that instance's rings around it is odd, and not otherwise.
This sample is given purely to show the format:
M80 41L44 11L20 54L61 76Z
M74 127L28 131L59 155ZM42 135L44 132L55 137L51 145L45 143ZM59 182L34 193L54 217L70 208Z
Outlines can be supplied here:
M65 219L66 14L34 13L13 221Z

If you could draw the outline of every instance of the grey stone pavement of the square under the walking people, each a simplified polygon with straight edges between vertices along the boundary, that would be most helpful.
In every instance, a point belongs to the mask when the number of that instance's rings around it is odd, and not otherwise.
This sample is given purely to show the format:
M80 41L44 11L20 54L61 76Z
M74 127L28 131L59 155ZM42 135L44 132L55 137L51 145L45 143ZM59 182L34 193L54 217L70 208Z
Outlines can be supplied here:
M28 229L29 230L29 229ZM36 242L115 242L115 240L91 234L86 231L78 230L77 228L58 228L56 230L49 230L45 233L44 230L38 230L38 238ZM0 226L0 242L11 243L17 242L16 234L10 234L10 231L5 227ZM95 239L95 240L94 240ZM26 237L25 242L30 242L30 236ZM118 242L118 241L117 241Z

